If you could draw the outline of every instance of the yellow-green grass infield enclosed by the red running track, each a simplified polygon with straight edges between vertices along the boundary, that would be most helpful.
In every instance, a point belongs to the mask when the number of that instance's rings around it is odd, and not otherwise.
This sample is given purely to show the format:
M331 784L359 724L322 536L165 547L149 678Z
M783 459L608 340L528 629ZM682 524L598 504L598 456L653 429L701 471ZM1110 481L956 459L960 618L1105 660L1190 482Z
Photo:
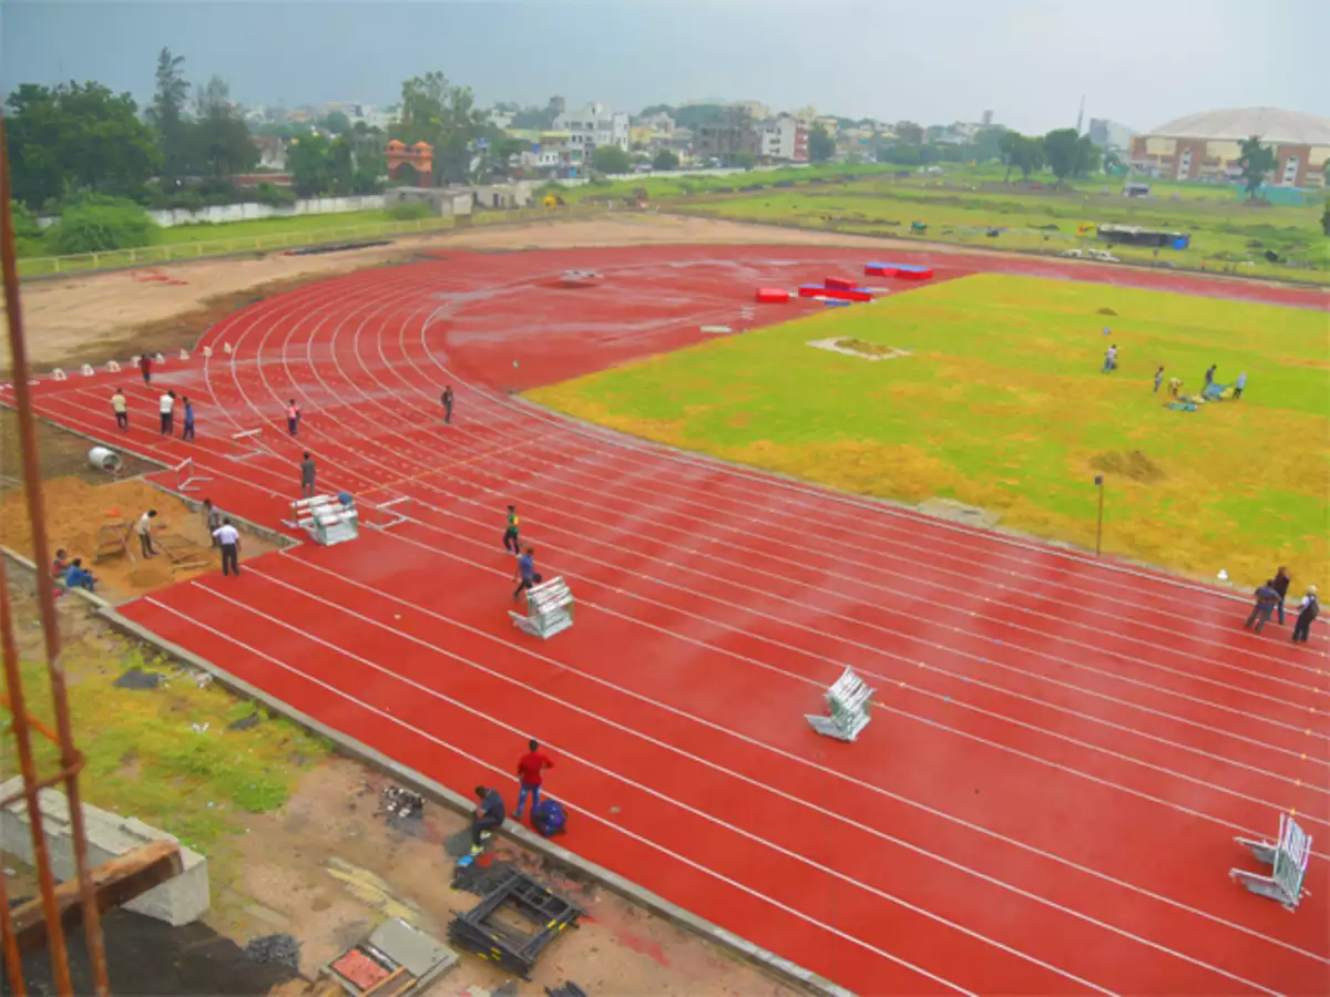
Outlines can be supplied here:
M1109 308L1116 315L1105 316ZM1105 336L1103 328L1111 327ZM814 350L910 350L868 362ZM1120 370L1100 372L1116 343ZM1241 401L1184 413L1157 364ZM1330 326L1325 312L976 275L835 308L531 392L569 415L833 488L947 497L1001 525L1200 576L1327 581Z

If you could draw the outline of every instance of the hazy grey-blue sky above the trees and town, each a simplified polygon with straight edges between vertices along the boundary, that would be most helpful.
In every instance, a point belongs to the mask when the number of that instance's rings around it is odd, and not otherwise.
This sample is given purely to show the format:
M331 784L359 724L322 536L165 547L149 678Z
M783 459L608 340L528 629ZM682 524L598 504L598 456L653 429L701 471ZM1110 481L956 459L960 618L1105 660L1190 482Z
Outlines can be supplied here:
M1027 132L1137 129L1197 110L1330 116L1330 0L0 0L0 88L97 80L150 94L162 45L242 101L396 101L442 69L483 104L807 104Z

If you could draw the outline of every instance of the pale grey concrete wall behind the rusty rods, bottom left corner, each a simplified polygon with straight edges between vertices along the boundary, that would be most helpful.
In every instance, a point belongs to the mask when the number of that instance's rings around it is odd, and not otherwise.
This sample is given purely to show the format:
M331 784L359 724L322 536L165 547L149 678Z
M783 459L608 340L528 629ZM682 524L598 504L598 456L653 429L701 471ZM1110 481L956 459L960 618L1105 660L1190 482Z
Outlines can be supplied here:
M0 798L21 791L23 778L17 776L0 786ZM74 856L69 833L69 804L64 794L55 790L43 790L39 803L41 806L41 823L47 831L52 872L60 880L73 879ZM104 861L125 855L149 841L176 840L137 818L121 818L86 803L84 804L84 828L88 832L89 868L101 865ZM29 865L33 863L32 826L28 822L25 800L16 800L0 810L0 847ZM184 845L181 845L180 853L184 872L125 904L126 911L165 921L173 928L197 921L203 916L210 901L207 859Z

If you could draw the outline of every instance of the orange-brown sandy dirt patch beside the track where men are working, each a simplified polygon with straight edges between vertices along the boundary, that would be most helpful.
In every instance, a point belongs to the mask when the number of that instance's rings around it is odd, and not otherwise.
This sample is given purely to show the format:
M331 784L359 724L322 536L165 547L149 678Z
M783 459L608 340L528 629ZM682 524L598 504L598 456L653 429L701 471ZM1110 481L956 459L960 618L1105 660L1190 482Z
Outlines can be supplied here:
M59 477L45 483L47 534L52 553L64 548L70 558L81 557L100 584L97 594L122 601L154 592L178 581L219 570L221 556L213 550L201 513L176 496L153 488L142 479L89 484L77 477ZM130 552L94 561L97 534L104 524L134 522L146 509L157 509L157 548L165 545L198 566L173 570L173 560L162 550L144 560L137 540L130 538ZM0 500L0 542L32 558L32 532L21 491L12 491ZM242 560L275 549L273 544L245 536Z

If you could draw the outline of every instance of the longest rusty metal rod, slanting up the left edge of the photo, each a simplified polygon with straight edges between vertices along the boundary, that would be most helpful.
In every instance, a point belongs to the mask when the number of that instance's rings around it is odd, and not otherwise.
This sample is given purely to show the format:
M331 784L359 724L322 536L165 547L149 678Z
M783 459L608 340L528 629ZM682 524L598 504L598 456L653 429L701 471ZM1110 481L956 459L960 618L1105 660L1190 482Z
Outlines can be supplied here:
M0 270L4 277L4 304L9 320L9 370L13 376L13 395L19 409L19 441L23 449L23 480L28 500L28 521L32 526L32 557L41 566L51 564L51 546L47 541L47 524L41 501L41 459L37 453L37 432L32 417L32 391L28 384L28 348L23 336L23 308L19 298L19 254L13 237L13 211L9 207L13 190L9 186L9 149L5 142L4 110L0 109ZM8 593L7 593L8 596ZM49 585L43 585L39 577L37 605L41 609L41 631L47 646L47 674L51 682L51 702L56 714L56 731L60 734L60 764L70 770L78 760L74 750L73 724L69 720L69 695L65 689L65 673L60 663L60 618L56 613L56 597ZM7 655L8 657L8 655ZM7 665L8 667L8 665ZM17 674L19 662L13 662ZM9 687L13 697L16 687ZM17 699L15 705L19 706ZM27 719L20 711L15 714L15 726L23 724L28 734ZM25 782L28 782L25 779ZM82 794L78 792L78 776L65 779L65 798L69 803L69 832L73 839L74 875L78 880L80 903L84 912L84 940L88 948L88 962L92 968L93 989L97 997L110 997L110 980L106 974L106 950L101 936L101 912L93 892L92 876L88 869L88 832L84 827ZM36 803L36 791L29 806ZM40 815L39 815L40 831ZM66 954L68 958L68 954ZM68 965L64 968L68 977Z

